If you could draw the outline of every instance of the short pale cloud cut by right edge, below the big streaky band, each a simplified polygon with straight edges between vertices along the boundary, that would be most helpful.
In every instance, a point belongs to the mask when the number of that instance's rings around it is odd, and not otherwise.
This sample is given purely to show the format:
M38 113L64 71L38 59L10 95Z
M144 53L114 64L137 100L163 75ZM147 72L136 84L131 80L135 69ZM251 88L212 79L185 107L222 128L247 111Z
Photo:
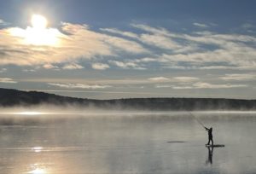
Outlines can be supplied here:
M244 80L255 80L256 74L253 73L232 73L225 74L223 77L220 77L223 80L231 81L244 81Z

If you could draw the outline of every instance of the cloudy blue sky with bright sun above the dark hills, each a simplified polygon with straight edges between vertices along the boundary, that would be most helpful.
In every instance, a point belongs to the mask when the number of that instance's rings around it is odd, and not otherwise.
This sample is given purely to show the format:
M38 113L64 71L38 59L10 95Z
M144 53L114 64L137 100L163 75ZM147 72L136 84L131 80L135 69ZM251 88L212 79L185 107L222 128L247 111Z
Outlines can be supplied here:
M0 1L0 87L256 98L256 1Z

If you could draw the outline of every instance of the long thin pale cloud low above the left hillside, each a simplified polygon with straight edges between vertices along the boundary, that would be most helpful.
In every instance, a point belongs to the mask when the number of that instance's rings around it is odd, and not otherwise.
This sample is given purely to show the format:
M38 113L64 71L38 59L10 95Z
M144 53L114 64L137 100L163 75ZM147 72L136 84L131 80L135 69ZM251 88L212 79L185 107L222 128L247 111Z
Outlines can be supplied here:
M56 84L56 83L48 83L52 86L57 86L60 88L66 88L66 89L90 89L90 90L96 90L96 89L105 89L110 88L112 86L110 85L100 85L100 84Z

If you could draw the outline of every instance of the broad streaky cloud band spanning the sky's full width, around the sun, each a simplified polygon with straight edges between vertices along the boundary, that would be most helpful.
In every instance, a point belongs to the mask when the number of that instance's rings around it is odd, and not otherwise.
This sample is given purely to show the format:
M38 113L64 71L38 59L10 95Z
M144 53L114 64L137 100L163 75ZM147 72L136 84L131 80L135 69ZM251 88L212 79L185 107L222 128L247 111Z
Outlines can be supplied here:
M0 65L44 66L80 60L93 64L111 57L114 61L107 61L123 69L152 66L201 70L256 68L256 38L253 35L209 31L177 33L163 27L131 26L141 32L124 32L116 28L102 28L96 32L86 25L62 23L59 30L50 30L56 34L56 45L27 44L24 33L29 27L5 27L0 29L4 43L0 44Z

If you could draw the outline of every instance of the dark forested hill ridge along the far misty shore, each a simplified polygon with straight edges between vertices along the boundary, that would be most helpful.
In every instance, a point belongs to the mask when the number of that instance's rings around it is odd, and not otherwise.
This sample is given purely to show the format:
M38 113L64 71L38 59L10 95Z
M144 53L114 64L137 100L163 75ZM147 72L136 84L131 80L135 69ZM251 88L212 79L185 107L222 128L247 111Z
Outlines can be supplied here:
M57 106L76 105L79 107L102 107L106 109L140 110L256 110L256 100L222 98L127 98L93 100L38 91L21 91L0 88L0 106L32 106L50 104Z

